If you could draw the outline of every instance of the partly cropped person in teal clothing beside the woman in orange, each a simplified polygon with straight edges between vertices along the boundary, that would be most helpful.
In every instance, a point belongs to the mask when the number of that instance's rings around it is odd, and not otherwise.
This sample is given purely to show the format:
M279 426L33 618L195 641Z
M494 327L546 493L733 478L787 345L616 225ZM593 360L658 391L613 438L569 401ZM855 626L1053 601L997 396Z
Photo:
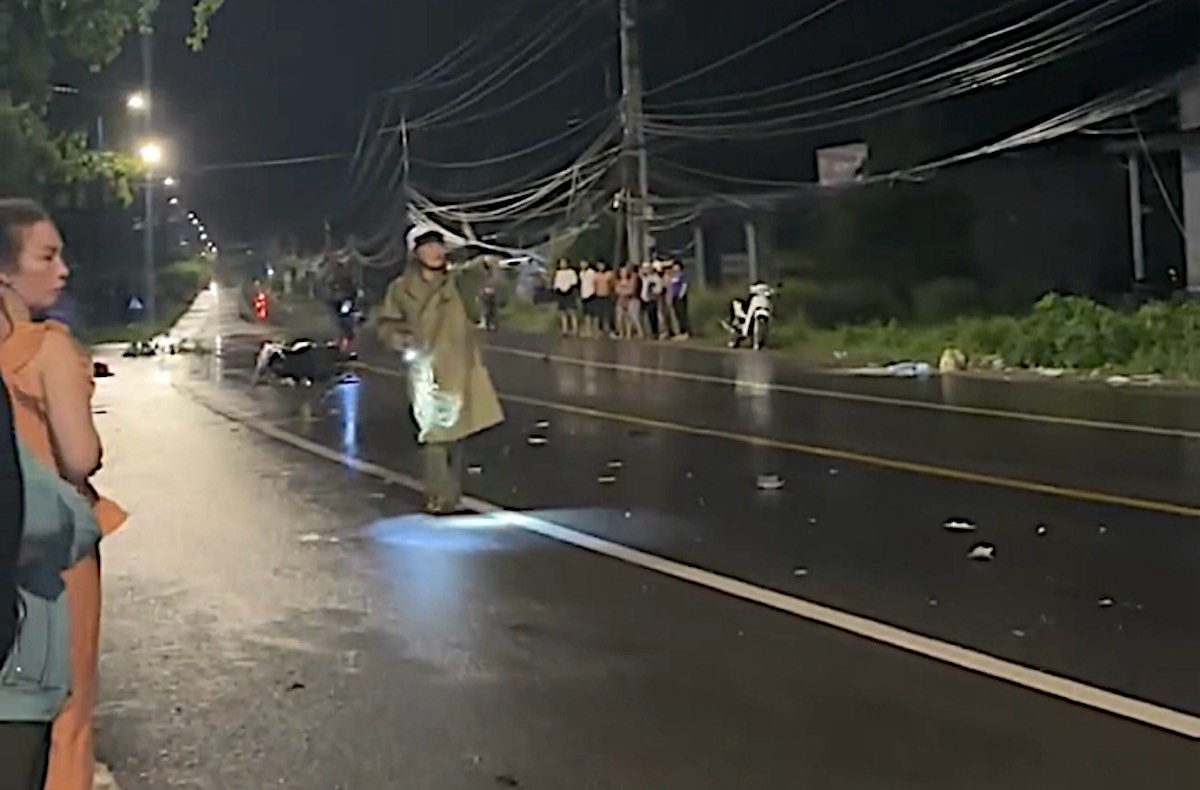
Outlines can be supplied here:
M0 789L42 790L71 693L62 574L94 555L100 529L89 503L17 441L2 381L0 503Z

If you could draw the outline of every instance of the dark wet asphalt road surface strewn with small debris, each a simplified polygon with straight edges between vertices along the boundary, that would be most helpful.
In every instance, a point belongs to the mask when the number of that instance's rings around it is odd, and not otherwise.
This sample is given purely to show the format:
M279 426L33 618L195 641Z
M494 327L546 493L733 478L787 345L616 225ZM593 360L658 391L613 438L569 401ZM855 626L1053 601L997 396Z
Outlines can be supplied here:
M134 511L106 555L102 747L124 788L1192 786L1200 754L1177 735L520 529L412 515L407 490L203 406L412 472L403 383L386 355L368 354L377 372L328 391L251 391L254 342L121 363L101 387L102 481ZM738 388L631 370L737 381L750 363L726 355L503 342L533 357L488 354L515 397L508 424L470 448L470 493L1200 713L1194 517L733 436L1180 504L1195 499L1182 462L1194 439L762 388L767 375L941 402L937 382L847 381L750 358L758 385ZM541 358L551 351L623 367ZM1014 406L1000 385L960 383L971 391L956 403ZM1020 391L1040 413L1069 413L1050 389ZM1075 413L1190 425L1186 397L1128 396L1074 395ZM1157 397L1176 412L1156 409ZM548 443L530 447L530 433ZM1060 442L1092 451L1068 462ZM1024 448L1027 462L992 444ZM1174 484L1099 474L1100 447L1130 469L1151 456ZM785 487L758 491L766 473ZM601 484L606 474L616 483ZM950 517L978 529L949 533ZM995 544L994 562L966 558L979 541Z

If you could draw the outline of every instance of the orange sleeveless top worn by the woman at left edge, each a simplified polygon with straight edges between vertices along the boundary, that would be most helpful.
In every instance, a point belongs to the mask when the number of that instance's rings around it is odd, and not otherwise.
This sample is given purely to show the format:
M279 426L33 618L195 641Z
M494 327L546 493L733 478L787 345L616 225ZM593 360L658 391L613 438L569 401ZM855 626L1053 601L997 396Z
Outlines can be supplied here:
M37 355L42 342L49 333L62 333L71 336L71 330L56 321L44 323L14 322L12 333L0 340L0 371L12 400L12 419L17 437L47 468L58 468L54 456L54 441L50 437L50 424L46 411L46 391L42 378L30 363ZM78 366L79 376L86 378L88 387L95 391L91 359L80 352L74 359L60 364ZM128 519L128 514L119 504L100 496L90 485L85 486L84 496L92 503L96 521L103 534L119 529Z

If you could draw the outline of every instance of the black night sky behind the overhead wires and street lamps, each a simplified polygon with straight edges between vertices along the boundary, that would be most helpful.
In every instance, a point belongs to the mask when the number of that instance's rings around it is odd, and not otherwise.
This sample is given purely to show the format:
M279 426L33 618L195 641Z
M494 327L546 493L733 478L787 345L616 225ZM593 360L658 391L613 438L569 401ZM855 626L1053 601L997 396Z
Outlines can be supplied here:
M1110 1L1124 6L1139 2ZM1074 0L1072 5L1082 10L1098 2ZM587 119L610 106L618 84L617 50L611 46L616 38L616 0L228 0L214 23L208 48L199 54L182 44L190 2L172 0L163 5L156 52L162 133L172 140L184 169L185 199L226 240L258 240L277 232L311 237L319 229L319 217L337 204L346 162L203 173L193 168L349 151L373 91L421 72L473 35L486 36L485 46L445 76L460 77L461 82L408 95L410 116L436 112L479 79L515 68L521 71L508 85L444 122L491 113L538 88L542 92L510 112L414 133L414 157L440 163L421 164L414 170L414 179L431 192L476 191L560 167L582 150L599 125L503 166L444 164L503 155L568 133L574 128L569 126L572 120ZM740 5L642 0L647 88L653 90L822 5L824 0L755 0ZM752 56L677 89L652 94L648 103L653 109L662 102L794 79L899 46L997 5L998 0L848 0ZM972 31L1054 5L1055 0L1026 0L1013 13ZM895 124L896 128L908 130L910 136L912 128L929 130L928 136L920 136L928 137L930 150L941 152L988 142L1048 110L1118 86L1132 76L1163 71L1195 56L1200 52L1198 6L1194 0L1162 0L1099 49L970 100L920 110L916 119L886 119L884 128ZM542 30L547 31L545 40L521 58L490 60L497 53L503 55L515 38ZM101 77L108 89L121 90L138 80L134 49L131 47ZM900 56L894 64L911 62L937 49L935 44ZM854 72L842 83L863 76ZM839 83L809 85L773 98L830 84ZM726 108L728 104L720 109ZM878 125L874 128L877 133ZM707 143L667 150L677 161L725 173L808 179L814 145L857 139L869 131L852 125L774 142ZM886 145L888 134L883 138Z

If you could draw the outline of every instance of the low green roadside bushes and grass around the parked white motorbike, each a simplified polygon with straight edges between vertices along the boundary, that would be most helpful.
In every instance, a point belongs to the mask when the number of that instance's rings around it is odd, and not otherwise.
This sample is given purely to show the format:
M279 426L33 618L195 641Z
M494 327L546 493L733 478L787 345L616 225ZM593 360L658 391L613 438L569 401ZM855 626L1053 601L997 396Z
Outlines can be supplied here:
M701 341L722 341L721 318L743 288L694 291L692 324ZM814 364L936 365L947 348L977 370L1054 369L1157 375L1200 381L1200 304L1150 303L1116 309L1082 297L1048 294L1030 310L988 315L980 288L943 279L907 294L870 280L782 283L770 346ZM550 305L510 303L506 325L556 331Z

